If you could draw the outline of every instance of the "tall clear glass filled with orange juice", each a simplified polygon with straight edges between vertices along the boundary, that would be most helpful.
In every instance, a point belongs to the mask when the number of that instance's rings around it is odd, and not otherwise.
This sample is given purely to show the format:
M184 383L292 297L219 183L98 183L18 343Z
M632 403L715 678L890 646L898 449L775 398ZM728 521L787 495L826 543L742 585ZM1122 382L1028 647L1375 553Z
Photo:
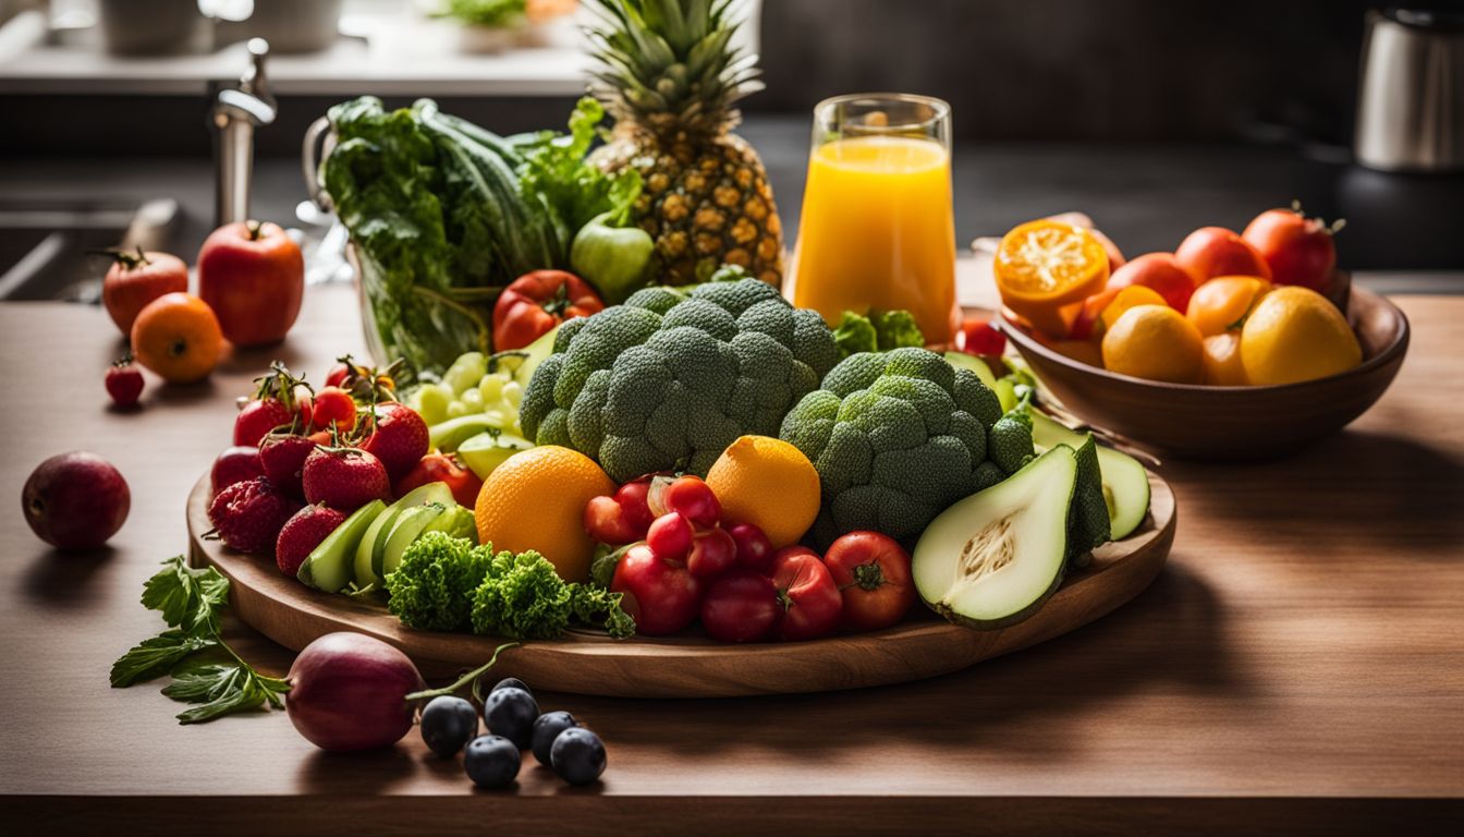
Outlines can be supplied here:
M927 343L955 337L949 104L908 94L818 103L792 286L793 303L832 325L845 311L905 308Z

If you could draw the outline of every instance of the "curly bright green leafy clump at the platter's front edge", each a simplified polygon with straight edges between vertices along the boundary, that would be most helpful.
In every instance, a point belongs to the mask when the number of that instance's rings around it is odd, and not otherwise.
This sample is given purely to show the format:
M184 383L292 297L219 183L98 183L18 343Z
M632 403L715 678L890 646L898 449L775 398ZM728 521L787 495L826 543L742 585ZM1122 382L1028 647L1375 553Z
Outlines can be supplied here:
M600 624L610 636L635 632L621 594L567 583L539 553L493 553L492 544L427 532L386 576L388 607L403 624L468 630L507 639L552 639L571 622Z

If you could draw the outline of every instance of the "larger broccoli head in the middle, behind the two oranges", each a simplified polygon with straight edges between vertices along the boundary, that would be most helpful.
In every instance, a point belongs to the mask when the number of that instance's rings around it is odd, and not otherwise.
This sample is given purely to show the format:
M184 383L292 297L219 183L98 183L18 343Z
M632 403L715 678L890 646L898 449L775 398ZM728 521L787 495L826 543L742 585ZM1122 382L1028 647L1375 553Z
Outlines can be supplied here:
M690 293L647 287L559 327L520 424L536 444L572 447L618 482L706 475L739 435L777 435L837 359L818 312L754 279Z

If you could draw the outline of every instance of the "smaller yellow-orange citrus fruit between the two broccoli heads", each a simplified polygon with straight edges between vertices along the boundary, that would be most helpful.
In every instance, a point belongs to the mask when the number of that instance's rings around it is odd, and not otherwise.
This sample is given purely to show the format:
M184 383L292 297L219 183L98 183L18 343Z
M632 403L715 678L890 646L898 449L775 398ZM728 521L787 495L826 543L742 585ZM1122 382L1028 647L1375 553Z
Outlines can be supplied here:
M777 550L796 544L818 516L818 471L780 438L738 438L712 465L707 485L723 519L752 523Z

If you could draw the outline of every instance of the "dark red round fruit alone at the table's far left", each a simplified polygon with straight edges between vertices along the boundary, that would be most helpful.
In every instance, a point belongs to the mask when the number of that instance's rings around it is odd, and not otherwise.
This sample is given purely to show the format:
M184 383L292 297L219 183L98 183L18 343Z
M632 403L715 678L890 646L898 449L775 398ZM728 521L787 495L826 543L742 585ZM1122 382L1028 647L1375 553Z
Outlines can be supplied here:
M107 542L132 507L127 481L95 453L53 456L31 472L20 493L25 522L59 550L94 550Z

